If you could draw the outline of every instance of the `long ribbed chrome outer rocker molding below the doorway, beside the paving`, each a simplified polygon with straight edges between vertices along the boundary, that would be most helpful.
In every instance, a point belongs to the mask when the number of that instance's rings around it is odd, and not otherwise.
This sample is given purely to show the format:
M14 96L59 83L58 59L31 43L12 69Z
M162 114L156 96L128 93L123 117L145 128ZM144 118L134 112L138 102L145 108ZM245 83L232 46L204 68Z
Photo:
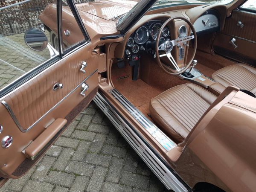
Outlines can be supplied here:
M124 117L120 116L113 106L108 102L104 95L97 93L93 101L110 119L116 129L122 134L125 140L131 145L134 151L144 160L148 167L161 180L167 189L178 192L187 192L188 189L177 179L171 170L160 160L159 157L149 148L139 137L134 128L125 122Z

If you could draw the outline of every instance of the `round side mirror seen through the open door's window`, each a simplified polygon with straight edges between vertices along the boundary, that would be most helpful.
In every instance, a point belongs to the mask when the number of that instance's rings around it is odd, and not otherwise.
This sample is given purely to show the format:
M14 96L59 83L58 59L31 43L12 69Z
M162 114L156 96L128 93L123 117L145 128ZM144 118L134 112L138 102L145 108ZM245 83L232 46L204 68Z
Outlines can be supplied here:
M48 45L47 36L43 31L36 28L30 28L24 35L26 45L34 51L42 51Z

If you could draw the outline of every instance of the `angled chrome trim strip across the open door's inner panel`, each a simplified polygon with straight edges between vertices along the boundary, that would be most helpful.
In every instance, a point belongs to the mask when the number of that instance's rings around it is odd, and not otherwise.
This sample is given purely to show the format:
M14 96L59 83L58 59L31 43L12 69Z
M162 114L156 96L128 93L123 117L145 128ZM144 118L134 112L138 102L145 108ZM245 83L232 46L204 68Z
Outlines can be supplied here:
M6 107L7 111L9 112L9 114L11 115L13 121L15 122L15 124L17 125L17 127L20 129L21 132L26 133L28 132L31 128L33 128L39 121L41 121L41 119L43 119L48 113L50 113L53 109L55 109L56 107L58 107L58 105L61 104L61 102L63 102L68 96L70 96L70 94L72 94L77 88L79 88L81 86L81 84L83 84L85 81L87 81L87 79L89 79L94 73L96 73L98 71L98 69L96 69L93 73L91 73L89 76L87 76L87 78L85 78L79 85L77 85L72 91L70 91L70 93L68 93L66 96L64 96L56 105L54 105L49 111L47 111L46 113L44 113L43 116L41 116L36 122L34 122L29 128L24 129L22 128L22 126L20 125L20 122L18 121L17 117L15 116L14 112L12 111L12 108L8 105L8 103L6 101L1 101L1 103Z

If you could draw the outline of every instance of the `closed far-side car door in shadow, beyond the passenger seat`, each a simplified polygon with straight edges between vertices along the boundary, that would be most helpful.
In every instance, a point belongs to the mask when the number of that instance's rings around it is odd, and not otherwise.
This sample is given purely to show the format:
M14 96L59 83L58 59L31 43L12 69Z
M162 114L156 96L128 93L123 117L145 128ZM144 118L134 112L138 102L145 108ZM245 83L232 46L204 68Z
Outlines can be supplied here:
M256 5L247 0L232 11L213 43L215 52L256 67Z

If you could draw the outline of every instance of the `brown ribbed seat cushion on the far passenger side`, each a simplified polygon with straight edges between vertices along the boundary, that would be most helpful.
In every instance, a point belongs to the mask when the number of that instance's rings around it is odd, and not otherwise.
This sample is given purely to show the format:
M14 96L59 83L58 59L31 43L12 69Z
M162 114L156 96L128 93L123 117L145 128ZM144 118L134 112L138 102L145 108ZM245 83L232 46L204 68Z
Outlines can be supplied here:
M234 64L212 74L212 78L224 87L233 85L256 94L256 68L247 64Z

